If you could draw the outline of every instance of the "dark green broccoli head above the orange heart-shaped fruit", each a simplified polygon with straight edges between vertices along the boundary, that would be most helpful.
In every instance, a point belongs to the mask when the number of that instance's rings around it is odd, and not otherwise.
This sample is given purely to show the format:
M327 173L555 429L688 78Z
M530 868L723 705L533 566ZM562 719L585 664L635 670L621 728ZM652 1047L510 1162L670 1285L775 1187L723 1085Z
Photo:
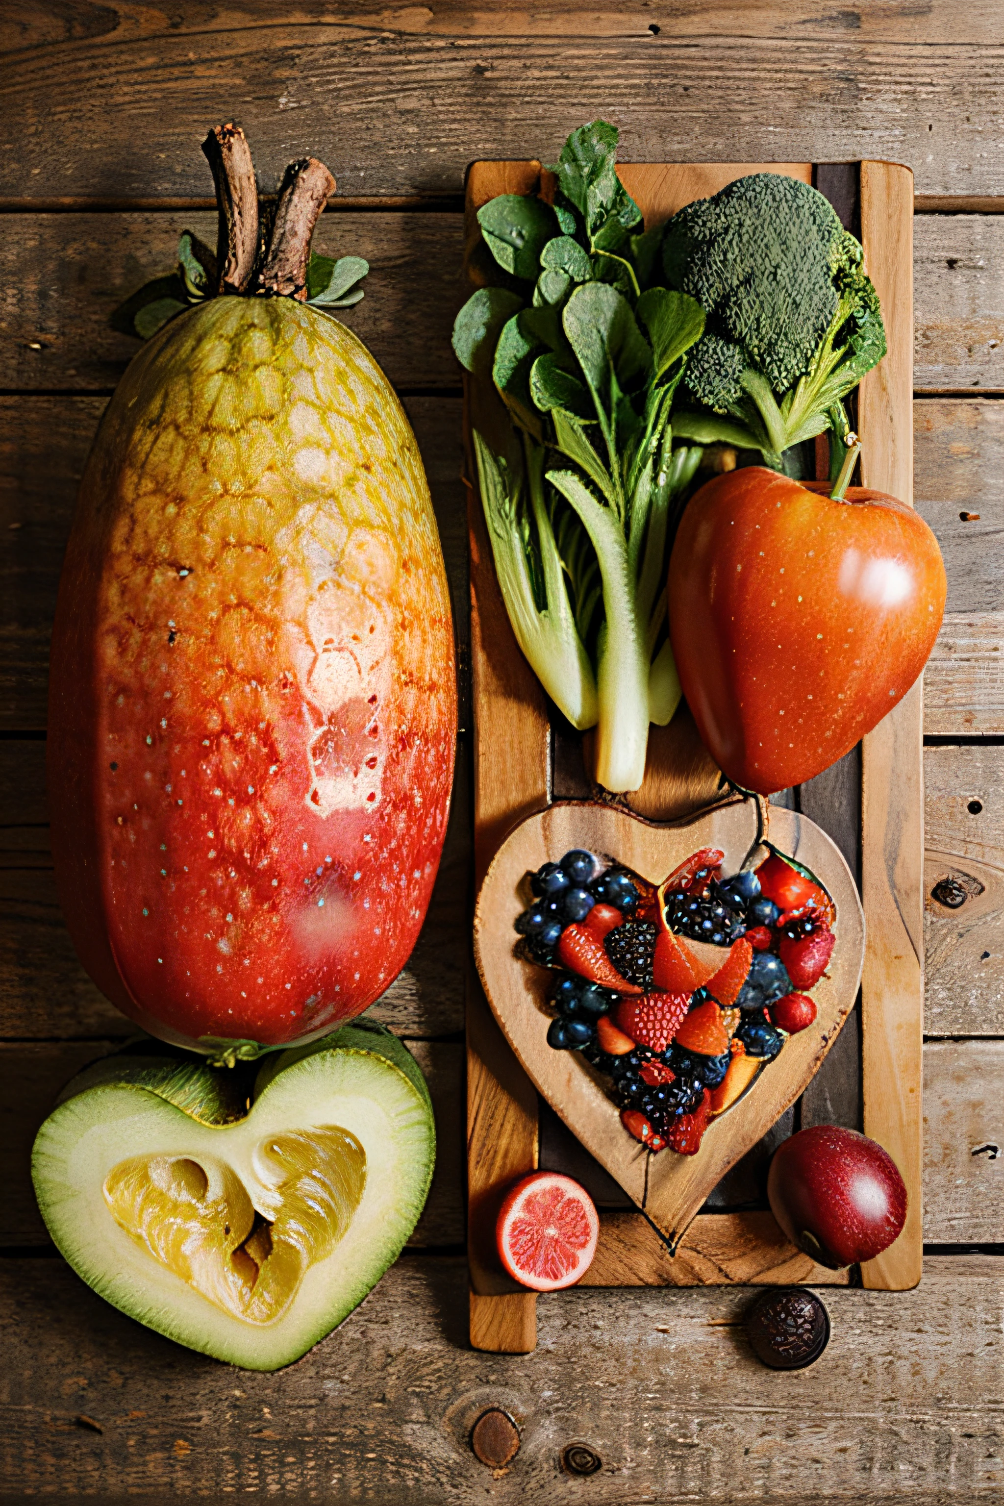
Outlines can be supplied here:
M861 244L795 178L753 173L680 209L662 261L668 285L707 315L685 376L701 408L674 416L680 437L727 440L780 464L837 422L885 354Z

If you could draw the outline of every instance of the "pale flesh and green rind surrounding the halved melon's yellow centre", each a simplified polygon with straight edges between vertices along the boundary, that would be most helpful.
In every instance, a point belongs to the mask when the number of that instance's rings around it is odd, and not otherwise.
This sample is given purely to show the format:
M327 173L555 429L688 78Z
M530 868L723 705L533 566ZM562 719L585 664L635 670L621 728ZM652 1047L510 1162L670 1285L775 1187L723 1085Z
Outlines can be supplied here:
M253 1370L275 1370L298 1360L372 1291L400 1254L421 1214L435 1163L435 1125L424 1078L394 1036L349 1026L283 1056L286 1062L278 1057L274 1065L269 1062L266 1078L260 1086L256 1084L253 1116L259 1128L253 1134L244 1134L244 1142L250 1143L254 1136L269 1133L268 1114L281 1113L283 1098L294 1099L297 1111L291 1111L288 1105L288 1117L277 1119L271 1128L297 1123L300 1102L321 1102L325 1080L330 1078L327 1086L336 1086L343 1069L354 1063L349 1068L355 1074L354 1086L358 1089L361 1074L373 1089L369 1098L355 1093L357 1120L363 1111L360 1105L366 1102L375 1105L378 1117L382 1114L387 1119L385 1104L396 1099L390 1130L399 1155L382 1170L379 1164L375 1167L373 1160L379 1163L387 1149L385 1137L361 1134L367 1148L367 1188L357 1217L334 1253L312 1267L292 1309L275 1324L245 1324L194 1292L119 1229L99 1190L104 1175L117 1158L141 1149L138 1140L149 1130L151 1116L158 1120L151 1148L176 1149L179 1154L206 1154L206 1143L209 1154L214 1154L220 1142L206 1142L205 1134L239 1137L245 1120L215 1126L202 1120L203 1140L193 1148L187 1139L193 1131L184 1125L187 1119L194 1120L194 1116L170 1102L157 1086L143 1086L138 1081L137 1059L120 1059L122 1077L116 1080L108 1075L104 1081L81 1086L50 1114L39 1130L32 1155L39 1209L53 1241L93 1291L128 1316L178 1343ZM114 1059L107 1065L113 1063ZM80 1081L81 1078L77 1080ZM163 1086L161 1080L160 1087ZM345 1111L346 1101L343 1095L342 1107L336 1099L330 1113L315 1113L315 1122L325 1117L351 1120L351 1114ZM125 1126L128 1120L132 1120L131 1128ZM114 1140L116 1126L122 1126L122 1143L110 1149L108 1142ZM354 1128L351 1122L348 1126ZM357 1122L355 1130L358 1128ZM104 1160L98 1155L99 1170L92 1172L90 1188L86 1190L81 1167L74 1161L80 1163L95 1139L105 1142L101 1149ZM372 1170L379 1175L373 1178ZM346 1273L357 1245L363 1247L363 1259L357 1270Z

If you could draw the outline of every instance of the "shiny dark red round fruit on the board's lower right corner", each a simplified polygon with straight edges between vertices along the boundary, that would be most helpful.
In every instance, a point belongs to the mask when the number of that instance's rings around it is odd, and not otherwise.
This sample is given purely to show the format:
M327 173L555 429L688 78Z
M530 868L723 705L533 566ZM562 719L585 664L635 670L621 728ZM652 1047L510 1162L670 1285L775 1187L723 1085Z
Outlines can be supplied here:
M888 1250L906 1223L906 1187L893 1157L838 1125L813 1125L781 1142L768 1197L792 1244L834 1271Z

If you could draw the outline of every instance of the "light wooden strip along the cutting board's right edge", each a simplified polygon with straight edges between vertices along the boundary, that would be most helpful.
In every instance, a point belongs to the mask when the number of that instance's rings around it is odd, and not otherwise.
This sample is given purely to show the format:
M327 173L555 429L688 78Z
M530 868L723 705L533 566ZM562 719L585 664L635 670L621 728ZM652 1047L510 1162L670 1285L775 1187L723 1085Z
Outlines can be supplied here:
M858 390L866 486L911 503L914 176L861 164L861 239L885 318L888 354ZM866 1286L914 1286L921 1270L923 1042L923 693L920 684L870 732L861 753L861 898L867 929L861 977L864 1133L885 1146L906 1182L906 1226L861 1267Z

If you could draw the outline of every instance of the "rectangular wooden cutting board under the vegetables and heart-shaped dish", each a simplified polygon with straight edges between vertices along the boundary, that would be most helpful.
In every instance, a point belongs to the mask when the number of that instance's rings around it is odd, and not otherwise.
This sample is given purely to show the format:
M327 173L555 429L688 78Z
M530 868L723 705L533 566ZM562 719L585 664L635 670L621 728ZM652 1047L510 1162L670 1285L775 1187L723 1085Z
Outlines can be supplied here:
M750 172L813 181L810 163L622 164L620 178L646 227L692 199ZM470 261L476 212L500 193L530 193L539 163L474 163L467 181ZM822 185L822 175L820 175ZM888 354L858 390L864 441L863 483L912 503L912 203L909 169L861 163L858 176L866 265L882 300ZM477 425L479 393L467 389L465 431ZM468 447L468 476L474 476ZM468 486L471 547L471 678L474 711L476 886L506 834L552 801L554 730L546 697L522 658L498 592L480 498ZM908 1289L921 1262L921 1044L923 1044L923 771L921 687L917 685L863 744L861 895L867 947L861 991L864 1130L893 1155L909 1194L906 1229L885 1254L861 1268L869 1288ZM652 729L649 764L631 807L650 821L674 821L718 797L720 776L683 708ZM471 1343L498 1352L536 1345L536 1295L498 1265L494 1224L512 1181L537 1164L537 1095L507 1045L471 971L468 1057L468 1259ZM726 1116L727 1117L727 1116ZM640 1214L601 1215L595 1265L605 1285L638 1285L632 1250L652 1232L625 1224ZM649 1256L649 1265L652 1259ZM662 1261L665 1267L667 1261ZM661 1282L844 1283L787 1245L765 1212L698 1215L671 1273ZM593 1285L590 1282L590 1285Z

